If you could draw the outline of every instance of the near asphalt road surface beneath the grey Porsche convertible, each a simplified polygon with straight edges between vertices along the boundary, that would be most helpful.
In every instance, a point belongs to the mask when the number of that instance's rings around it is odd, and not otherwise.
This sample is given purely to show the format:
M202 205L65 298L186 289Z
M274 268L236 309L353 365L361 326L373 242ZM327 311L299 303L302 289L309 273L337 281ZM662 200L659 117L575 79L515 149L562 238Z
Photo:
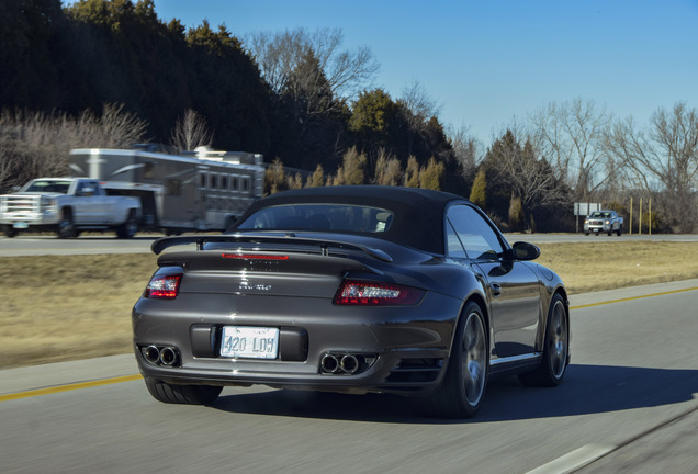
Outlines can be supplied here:
M133 356L0 371L0 470L698 472L697 303L698 280L575 295L563 384L496 381L472 420L423 418L394 396L264 387L165 405Z

